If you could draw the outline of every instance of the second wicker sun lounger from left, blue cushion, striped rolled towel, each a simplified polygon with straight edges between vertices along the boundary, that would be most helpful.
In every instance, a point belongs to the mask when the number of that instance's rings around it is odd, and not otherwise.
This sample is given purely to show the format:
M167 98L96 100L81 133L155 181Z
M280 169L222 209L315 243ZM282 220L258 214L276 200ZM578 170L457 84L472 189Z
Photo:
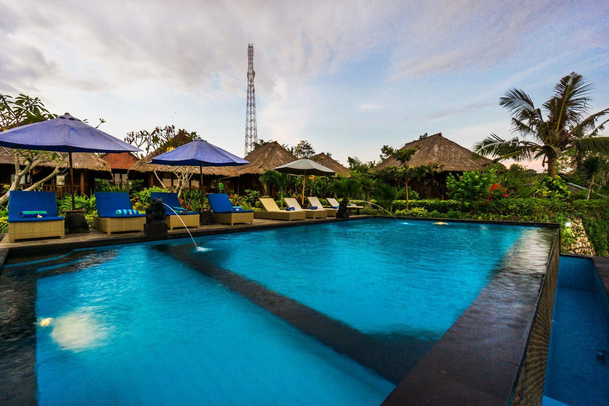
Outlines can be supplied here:
M143 231L146 213L133 213L129 194L126 192L95 192L97 216L93 226L108 235L120 231ZM127 214L122 214L127 210ZM132 210L133 214L128 214ZM121 213L121 214L117 214Z

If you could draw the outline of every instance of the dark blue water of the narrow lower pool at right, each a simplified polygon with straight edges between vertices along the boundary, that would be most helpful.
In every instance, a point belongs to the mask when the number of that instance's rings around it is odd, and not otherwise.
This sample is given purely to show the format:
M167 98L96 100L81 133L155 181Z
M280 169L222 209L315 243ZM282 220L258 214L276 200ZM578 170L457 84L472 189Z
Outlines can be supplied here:
M560 258L544 396L544 405L609 405L609 299L588 258Z

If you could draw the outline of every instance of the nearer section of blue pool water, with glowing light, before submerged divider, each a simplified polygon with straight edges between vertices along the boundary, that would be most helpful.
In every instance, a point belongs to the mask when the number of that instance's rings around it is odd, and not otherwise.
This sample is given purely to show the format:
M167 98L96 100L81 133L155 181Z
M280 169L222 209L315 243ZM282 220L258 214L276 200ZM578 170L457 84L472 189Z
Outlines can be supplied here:
M40 405L372 405L394 386L146 246L37 290Z

